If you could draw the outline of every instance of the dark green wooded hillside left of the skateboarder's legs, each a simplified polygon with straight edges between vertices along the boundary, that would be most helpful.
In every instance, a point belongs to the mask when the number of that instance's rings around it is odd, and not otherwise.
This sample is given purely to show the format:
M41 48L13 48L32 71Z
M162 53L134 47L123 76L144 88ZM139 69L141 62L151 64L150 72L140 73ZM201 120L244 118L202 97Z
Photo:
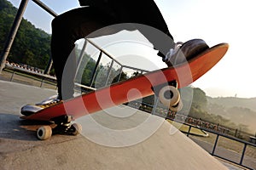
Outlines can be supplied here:
M0 52L12 26L17 8L6 0L0 0ZM44 69L50 56L50 35L22 19L10 50L9 62L32 65Z

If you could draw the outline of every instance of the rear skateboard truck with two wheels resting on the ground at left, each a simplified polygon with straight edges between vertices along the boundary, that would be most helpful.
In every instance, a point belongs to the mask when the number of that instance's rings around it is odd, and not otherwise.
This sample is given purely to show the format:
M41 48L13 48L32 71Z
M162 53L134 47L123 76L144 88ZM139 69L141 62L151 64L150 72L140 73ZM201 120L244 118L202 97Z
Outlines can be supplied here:
M38 139L49 139L52 134L78 135L82 132L82 126L78 123L71 123L73 116L59 116L52 119L53 126L42 126L37 130Z

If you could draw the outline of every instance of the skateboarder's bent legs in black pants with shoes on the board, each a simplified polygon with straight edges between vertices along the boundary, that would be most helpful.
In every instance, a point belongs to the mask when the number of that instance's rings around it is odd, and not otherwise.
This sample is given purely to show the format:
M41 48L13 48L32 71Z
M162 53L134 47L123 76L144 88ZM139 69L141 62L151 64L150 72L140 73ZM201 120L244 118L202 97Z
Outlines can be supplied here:
M89 7L76 8L67 13L57 16L52 22L52 41L51 53L54 61L55 75L57 79L58 95L54 99L49 99L47 105L26 105L22 107L21 113L27 114L39 111L51 105L51 103L58 102L62 99L69 99L73 97L73 79L75 74L75 59L73 59L73 66L71 66L68 74L62 78L62 73L67 62L69 54L72 53L74 42L80 38L87 37L101 37L122 31L106 30L98 34L90 34L98 29L106 26L121 23L137 23L144 26L151 26L166 34L166 39L152 35L147 29L137 27L137 25L129 26L125 30L140 31L144 37L154 45L156 50L159 50L159 55L162 57L166 65L171 66L174 61L178 60L178 54L182 51L186 57L191 57L208 48L206 42L200 39L191 40L185 43L174 43L171 33L168 31L166 22L160 14L159 8L153 0L80 0L81 5L89 5ZM85 3L84 3L85 2ZM142 10L147 8L147 10ZM179 62L183 62L179 61ZM73 69L72 69L73 68ZM62 86L62 80L65 80L65 86ZM65 87L65 89L63 89ZM65 93L62 93L65 92ZM65 94L65 96L63 96Z

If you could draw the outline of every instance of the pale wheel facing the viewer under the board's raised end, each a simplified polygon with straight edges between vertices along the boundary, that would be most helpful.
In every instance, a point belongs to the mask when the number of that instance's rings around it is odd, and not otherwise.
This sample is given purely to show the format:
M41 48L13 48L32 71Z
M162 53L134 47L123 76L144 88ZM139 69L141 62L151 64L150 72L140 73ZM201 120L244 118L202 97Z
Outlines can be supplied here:
M159 99L163 105L170 107L177 105L180 100L180 94L177 88L173 86L165 86L164 88L160 89Z

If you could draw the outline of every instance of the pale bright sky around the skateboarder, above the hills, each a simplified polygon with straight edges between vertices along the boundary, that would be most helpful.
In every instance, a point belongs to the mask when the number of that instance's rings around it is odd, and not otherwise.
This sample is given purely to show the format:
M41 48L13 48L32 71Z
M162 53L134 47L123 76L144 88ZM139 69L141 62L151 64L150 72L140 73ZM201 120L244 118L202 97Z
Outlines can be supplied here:
M61 14L79 7L79 1L41 0ZM16 7L20 1L9 0ZM255 2L253 0L155 0L176 42L201 38L212 47L228 42L230 49L211 71L194 82L212 97L256 97ZM29 1L24 17L51 33L53 17ZM161 62L161 61L157 61Z

